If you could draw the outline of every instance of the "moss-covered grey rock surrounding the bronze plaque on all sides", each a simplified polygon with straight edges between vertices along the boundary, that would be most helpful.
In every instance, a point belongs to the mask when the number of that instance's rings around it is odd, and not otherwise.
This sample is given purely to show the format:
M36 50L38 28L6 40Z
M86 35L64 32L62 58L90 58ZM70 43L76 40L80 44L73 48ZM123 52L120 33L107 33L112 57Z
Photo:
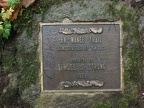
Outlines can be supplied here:
M139 42L138 16L135 9L118 0L36 1L13 22L16 34L3 50L2 64L4 73L9 77L9 85L3 90L1 103L6 108L141 107L137 85L143 83L141 68L144 55ZM68 22L123 21L123 93L40 93L39 22L62 22L63 19Z

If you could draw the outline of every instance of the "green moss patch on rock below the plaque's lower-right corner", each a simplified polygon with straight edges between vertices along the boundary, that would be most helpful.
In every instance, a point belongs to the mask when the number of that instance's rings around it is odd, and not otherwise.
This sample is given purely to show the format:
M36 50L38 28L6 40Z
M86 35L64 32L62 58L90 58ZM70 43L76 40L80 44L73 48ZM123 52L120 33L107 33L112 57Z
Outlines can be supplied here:
M96 100L93 108L133 108L139 107L139 100L136 99L138 94L137 85L126 85L124 93L113 92L109 97Z

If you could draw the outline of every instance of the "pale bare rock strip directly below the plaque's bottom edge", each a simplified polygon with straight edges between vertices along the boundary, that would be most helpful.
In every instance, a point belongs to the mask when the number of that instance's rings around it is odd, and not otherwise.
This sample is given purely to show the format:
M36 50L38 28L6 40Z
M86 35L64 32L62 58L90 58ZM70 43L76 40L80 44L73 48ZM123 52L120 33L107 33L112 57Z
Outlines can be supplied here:
M102 101L108 94L42 94L35 108L92 108L94 102Z

